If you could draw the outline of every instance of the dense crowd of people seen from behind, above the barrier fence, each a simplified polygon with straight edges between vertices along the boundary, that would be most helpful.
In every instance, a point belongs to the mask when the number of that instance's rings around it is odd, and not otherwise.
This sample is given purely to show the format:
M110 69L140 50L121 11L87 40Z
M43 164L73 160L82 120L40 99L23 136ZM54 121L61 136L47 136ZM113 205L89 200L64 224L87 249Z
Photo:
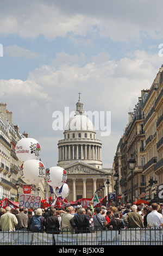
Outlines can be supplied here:
M129 228L163 227L163 204L151 206L118 205L83 208L79 203L76 208L27 209L21 206L11 209L0 208L0 231L33 231L57 234L66 231L69 234L93 233L96 230L120 230Z

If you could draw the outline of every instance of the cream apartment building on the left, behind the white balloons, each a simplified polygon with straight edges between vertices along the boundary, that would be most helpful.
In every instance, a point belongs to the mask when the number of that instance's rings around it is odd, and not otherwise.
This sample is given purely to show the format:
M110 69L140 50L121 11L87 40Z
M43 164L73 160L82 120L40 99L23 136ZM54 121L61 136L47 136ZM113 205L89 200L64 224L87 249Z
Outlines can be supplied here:
M23 193L24 182L20 179L22 162L16 156L15 147L24 137L28 137L28 133L20 133L18 125L12 124L12 112L8 111L7 104L0 103L0 200L8 198L17 202L18 194ZM35 193L37 188L34 185L32 194Z

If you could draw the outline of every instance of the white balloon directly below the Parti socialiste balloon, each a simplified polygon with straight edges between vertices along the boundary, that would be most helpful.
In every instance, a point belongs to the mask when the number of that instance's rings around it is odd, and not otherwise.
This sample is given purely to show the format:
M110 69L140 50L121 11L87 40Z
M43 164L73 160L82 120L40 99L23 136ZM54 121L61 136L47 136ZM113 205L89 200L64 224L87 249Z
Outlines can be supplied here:
M39 160L27 160L20 168L20 175L27 184L38 184L45 178L45 166Z

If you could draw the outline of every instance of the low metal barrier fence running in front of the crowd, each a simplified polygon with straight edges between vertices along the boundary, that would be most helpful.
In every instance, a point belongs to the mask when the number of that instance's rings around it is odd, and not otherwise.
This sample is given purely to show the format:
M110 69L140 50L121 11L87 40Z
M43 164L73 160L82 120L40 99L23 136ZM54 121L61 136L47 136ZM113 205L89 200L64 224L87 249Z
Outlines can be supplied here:
M59 245L59 246L106 246L106 245L162 245L162 228L96 230L94 233L58 234L33 233L30 231L1 231L0 245Z

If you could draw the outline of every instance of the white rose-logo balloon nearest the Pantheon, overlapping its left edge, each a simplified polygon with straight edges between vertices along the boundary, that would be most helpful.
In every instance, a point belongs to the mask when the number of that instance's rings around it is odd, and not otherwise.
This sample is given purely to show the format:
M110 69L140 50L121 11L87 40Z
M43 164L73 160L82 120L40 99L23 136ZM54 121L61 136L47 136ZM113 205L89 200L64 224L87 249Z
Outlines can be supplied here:
M67 173L62 167L54 166L47 170L46 181L52 187L60 187L67 180Z

